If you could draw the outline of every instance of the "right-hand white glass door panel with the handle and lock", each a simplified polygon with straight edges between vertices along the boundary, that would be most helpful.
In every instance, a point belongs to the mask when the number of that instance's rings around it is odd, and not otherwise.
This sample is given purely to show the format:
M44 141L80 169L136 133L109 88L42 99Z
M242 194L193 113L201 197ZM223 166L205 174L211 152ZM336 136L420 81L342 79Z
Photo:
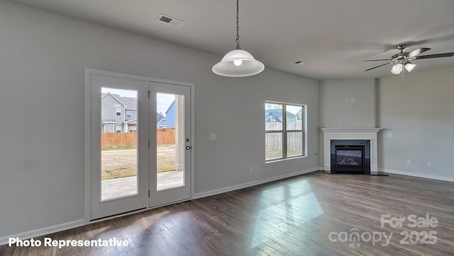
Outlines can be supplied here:
M190 93L187 86L150 82L150 206L177 202L191 195ZM167 107L165 129L154 123L156 116L162 115L160 110L164 110L160 107ZM174 135L175 144L165 141L169 134Z

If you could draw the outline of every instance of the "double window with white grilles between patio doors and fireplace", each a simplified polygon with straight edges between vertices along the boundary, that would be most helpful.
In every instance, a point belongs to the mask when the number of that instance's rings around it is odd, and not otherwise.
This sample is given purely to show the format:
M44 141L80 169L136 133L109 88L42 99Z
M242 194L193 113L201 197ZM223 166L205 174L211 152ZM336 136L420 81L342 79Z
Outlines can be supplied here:
M304 108L265 102L265 161L304 156Z

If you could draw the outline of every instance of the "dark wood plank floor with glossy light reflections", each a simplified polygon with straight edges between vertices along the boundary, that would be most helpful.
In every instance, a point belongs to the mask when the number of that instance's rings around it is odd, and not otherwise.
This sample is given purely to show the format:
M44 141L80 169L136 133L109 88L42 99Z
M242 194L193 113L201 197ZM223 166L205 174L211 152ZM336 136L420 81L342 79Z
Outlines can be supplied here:
M406 221L402 228L387 223L382 227L382 214ZM424 218L429 214L438 226L411 228L410 214ZM436 232L431 235L436 243L419 244L429 231ZM359 240L353 240L355 232ZM402 232L411 237L406 239ZM392 234L388 245L382 245L384 237L375 245L368 240L367 234L378 240L379 233ZM352 239L346 240L345 234ZM129 246L3 245L0 255L454 255L454 183L319 171L45 237L116 238L128 240Z

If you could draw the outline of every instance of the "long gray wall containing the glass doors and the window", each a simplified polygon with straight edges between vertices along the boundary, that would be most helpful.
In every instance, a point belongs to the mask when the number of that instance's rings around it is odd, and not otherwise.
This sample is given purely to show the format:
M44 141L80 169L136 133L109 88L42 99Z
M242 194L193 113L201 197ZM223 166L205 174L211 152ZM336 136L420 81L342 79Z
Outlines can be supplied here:
M87 67L196 84L196 193L318 166L318 81L216 76L221 56L1 0L0 31L0 237L84 218ZM265 100L308 106L309 157L265 164Z

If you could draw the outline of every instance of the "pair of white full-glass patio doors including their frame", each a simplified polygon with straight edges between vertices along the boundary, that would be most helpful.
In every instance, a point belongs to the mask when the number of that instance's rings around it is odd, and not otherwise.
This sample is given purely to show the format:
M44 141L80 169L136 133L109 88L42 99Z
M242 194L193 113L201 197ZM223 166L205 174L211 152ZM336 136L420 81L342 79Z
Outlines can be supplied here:
M89 219L189 199L191 88L92 69L86 83Z

